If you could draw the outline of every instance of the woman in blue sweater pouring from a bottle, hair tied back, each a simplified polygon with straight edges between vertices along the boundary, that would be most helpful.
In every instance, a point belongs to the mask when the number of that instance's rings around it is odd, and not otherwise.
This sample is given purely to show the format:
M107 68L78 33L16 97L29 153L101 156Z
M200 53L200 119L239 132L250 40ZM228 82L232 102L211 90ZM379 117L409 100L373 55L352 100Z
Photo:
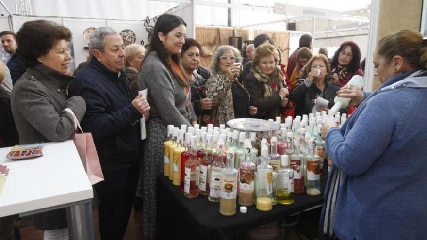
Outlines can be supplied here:
M374 56L382 85L338 92L360 106L341 129L329 119L322 127L333 167L321 239L427 239L426 62L419 32L392 32Z

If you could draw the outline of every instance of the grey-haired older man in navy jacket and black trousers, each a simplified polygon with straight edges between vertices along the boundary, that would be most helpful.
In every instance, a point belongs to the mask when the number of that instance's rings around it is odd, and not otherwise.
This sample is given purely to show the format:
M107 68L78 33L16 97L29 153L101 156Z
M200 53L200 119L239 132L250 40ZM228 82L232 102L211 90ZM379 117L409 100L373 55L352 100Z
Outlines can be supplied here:
M126 85L123 40L110 27L90 35L91 61L69 85L70 96L82 96L87 111L82 128L91 132L105 180L94 185L99 196L102 239L120 240L126 232L139 176L139 119L149 112L141 95Z

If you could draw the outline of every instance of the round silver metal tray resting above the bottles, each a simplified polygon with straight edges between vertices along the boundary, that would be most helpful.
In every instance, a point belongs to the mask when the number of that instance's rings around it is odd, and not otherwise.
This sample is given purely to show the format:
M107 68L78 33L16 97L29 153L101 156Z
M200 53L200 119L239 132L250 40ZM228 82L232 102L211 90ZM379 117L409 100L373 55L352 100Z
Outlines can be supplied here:
M280 127L278 123L257 118L236 118L228 121L227 125L230 128L251 132L279 130Z

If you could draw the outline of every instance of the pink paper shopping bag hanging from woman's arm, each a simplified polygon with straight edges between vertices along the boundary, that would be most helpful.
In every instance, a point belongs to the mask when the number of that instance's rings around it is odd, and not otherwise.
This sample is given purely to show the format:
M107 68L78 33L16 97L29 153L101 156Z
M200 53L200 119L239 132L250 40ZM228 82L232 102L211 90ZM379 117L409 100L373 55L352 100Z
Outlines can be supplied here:
M92 134L83 132L80 127L79 121L77 120L74 112L66 108L64 111L68 112L73 116L75 134L71 137L76 145L77 152L79 153L80 159L82 160L84 170L86 170L87 177L92 185L99 183L104 180L102 174L101 164L99 163L99 157L95 143L92 138ZM80 129L80 132L77 132Z

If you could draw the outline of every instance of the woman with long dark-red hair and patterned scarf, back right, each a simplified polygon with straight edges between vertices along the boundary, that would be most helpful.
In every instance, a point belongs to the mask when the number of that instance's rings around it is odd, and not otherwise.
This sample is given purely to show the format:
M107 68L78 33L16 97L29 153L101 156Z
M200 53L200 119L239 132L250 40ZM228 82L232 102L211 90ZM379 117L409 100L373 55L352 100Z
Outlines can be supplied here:
M351 41L344 42L335 52L332 59L330 81L342 87L354 75L363 77L360 61L361 52L359 46Z

